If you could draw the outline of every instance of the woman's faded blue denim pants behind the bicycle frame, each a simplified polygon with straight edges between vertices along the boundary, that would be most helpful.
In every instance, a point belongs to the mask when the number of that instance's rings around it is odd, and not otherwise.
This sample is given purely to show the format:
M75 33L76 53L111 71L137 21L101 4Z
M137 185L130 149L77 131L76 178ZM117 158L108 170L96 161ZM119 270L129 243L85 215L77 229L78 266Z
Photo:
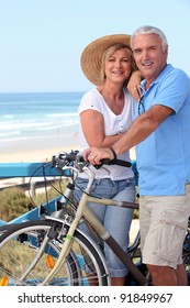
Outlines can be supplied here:
M81 190L87 187L87 179L78 178L75 188L75 198L77 201L81 198ZM78 186L78 187L77 187ZM80 189L79 189L80 187ZM135 180L134 178L111 180L110 178L96 179L93 183L92 196L115 199L119 201L135 201ZM118 208L114 206L88 204L88 207L96 213L108 232L126 252L128 246L128 231L133 219L133 209ZM83 223L80 226L82 231L90 234L89 229ZM104 243L103 252L107 264L112 277L124 277L127 274L125 265L116 257L112 250Z

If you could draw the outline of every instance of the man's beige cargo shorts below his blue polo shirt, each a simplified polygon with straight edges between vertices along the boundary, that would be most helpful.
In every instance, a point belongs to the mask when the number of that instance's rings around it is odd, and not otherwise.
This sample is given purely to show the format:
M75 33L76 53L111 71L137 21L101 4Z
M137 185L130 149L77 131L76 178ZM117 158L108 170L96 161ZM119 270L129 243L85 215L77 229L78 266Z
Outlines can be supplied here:
M142 196L139 199L143 262L177 268L190 216L190 185L180 196Z

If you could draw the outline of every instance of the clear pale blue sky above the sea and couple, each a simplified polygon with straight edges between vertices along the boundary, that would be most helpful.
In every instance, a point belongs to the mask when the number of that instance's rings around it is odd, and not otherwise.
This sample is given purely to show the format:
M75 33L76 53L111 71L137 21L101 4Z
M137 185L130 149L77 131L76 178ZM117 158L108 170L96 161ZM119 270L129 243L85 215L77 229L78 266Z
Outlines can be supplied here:
M0 92L86 91L85 46L144 24L165 32L168 62L190 76L190 0L0 0Z

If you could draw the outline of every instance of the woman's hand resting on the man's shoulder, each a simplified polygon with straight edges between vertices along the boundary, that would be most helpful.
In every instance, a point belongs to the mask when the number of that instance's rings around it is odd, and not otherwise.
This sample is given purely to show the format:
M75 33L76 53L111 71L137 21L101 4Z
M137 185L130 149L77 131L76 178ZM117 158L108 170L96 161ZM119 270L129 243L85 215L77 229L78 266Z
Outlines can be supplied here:
M127 89L136 101L139 101L142 97L142 89L139 87L141 80L142 80L142 75L139 70L135 70L133 72L127 84Z

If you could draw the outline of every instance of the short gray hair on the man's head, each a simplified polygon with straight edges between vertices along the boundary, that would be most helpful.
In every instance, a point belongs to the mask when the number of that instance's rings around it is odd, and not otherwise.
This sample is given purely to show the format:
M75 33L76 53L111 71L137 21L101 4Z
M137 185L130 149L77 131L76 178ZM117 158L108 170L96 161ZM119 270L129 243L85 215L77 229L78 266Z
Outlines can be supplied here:
M166 35L160 29L158 29L156 26L152 26L152 25L143 25L143 26L136 29L131 36L132 50L133 50L133 44L132 44L133 38L137 34L157 34L157 35L159 35L159 37L161 40L161 46L163 46L164 52L166 51L166 47L168 46L168 41L166 38Z

